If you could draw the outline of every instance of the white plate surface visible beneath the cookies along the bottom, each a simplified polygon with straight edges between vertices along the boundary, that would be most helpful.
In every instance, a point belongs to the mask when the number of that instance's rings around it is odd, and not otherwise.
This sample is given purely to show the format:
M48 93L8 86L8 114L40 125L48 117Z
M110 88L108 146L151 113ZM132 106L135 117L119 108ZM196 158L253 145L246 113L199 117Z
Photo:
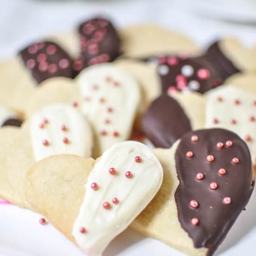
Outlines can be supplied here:
M84 256L78 247L50 223L40 225L40 217L14 205L0 205L0 256ZM255 243L256 191L216 255L255 255ZM160 241L141 236L132 229L117 236L103 253L103 256L131 255L185 256Z

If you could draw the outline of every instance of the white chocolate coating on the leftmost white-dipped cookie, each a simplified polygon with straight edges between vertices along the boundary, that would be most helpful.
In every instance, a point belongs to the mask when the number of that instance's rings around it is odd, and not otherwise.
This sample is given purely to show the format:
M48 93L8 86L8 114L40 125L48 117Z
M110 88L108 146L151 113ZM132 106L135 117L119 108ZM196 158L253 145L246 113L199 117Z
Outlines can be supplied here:
M47 119L47 123L44 123ZM43 124L43 128L40 128ZM66 129L61 129L65 125ZM91 156L92 133L86 119L67 104L47 105L30 122L30 135L36 161L57 154ZM63 141L67 138L67 143ZM43 141L47 140L48 145Z

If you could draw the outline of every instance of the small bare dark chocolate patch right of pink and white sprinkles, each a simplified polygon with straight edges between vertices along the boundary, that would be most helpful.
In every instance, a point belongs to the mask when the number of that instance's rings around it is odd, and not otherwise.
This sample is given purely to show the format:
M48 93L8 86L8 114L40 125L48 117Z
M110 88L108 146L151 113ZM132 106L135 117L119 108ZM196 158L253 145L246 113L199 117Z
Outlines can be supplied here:
M230 75L240 72L240 70L229 60L229 58L222 52L219 41L211 44L204 54L204 57L211 62L220 75L222 81Z

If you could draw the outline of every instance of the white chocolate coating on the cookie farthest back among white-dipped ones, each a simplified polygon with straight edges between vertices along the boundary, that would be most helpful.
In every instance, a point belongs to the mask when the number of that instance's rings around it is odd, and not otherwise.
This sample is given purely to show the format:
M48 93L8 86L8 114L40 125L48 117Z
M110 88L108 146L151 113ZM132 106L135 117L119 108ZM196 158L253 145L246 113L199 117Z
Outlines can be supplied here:
M78 84L82 113L94 128L94 157L98 157L113 144L128 139L140 103L140 89L130 74L112 64L84 69Z

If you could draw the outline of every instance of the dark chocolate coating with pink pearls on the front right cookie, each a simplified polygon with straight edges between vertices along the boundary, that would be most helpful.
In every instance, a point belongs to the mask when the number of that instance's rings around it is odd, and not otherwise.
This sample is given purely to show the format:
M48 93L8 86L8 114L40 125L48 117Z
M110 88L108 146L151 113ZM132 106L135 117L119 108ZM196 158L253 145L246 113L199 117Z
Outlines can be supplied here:
M197 142L191 142L193 135L198 136ZM231 147L216 147L218 142L225 145L228 140L233 142ZM193 157L186 157L188 151L193 152ZM214 156L213 162L207 161L208 155ZM234 157L239 163L231 162ZM181 138L175 164L180 181L175 192L179 221L193 239L195 248L208 248L210 256L222 243L253 191L249 149L242 139L228 130L190 131ZM227 171L226 175L218 173L220 168ZM198 173L204 175L202 180L196 179ZM212 182L217 183L217 189L209 188ZM225 197L230 197L231 202L224 204ZM196 200L199 207L189 206L191 200ZM198 218L198 225L192 225L194 217Z

